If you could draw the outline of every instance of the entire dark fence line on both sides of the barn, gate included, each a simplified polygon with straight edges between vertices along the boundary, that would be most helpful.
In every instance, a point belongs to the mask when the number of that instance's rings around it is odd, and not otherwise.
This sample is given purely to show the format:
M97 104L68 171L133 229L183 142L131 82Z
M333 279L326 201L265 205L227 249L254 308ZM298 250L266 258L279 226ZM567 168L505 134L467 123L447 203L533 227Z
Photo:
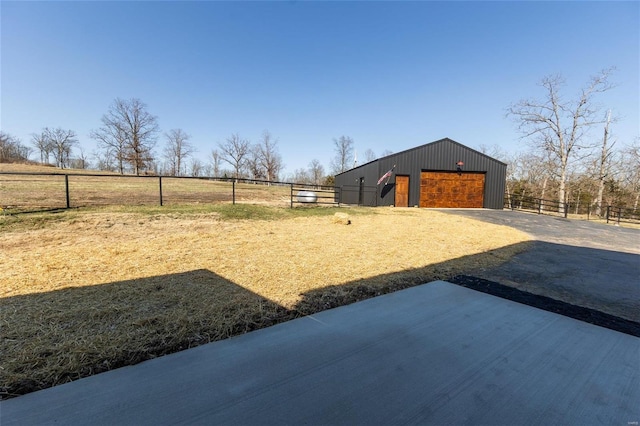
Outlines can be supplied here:
M264 203L282 207L358 204L377 206L377 188L318 186L291 182L216 177L133 176L90 173L0 172L0 209L26 212L107 205ZM567 217L594 213L591 203L510 195L504 207ZM640 211L602 208L608 222L640 223Z

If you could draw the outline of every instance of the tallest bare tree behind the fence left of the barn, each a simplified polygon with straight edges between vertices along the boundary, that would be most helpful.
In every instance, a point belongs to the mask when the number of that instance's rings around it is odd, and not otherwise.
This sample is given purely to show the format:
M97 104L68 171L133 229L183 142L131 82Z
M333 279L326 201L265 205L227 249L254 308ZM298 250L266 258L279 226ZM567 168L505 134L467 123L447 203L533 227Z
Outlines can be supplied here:
M111 149L124 173L129 163L136 175L153 162L152 150L159 132L157 118L147 111L140 100L116 98L109 111L102 116L103 126L91 132L101 149Z

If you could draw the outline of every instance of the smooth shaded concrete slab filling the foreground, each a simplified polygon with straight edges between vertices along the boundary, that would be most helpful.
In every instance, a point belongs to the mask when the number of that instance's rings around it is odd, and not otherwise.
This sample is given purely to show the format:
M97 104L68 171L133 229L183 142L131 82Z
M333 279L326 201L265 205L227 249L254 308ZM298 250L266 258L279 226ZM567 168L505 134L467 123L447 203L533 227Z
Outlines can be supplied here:
M10 425L629 425L640 339L446 282L0 402Z

